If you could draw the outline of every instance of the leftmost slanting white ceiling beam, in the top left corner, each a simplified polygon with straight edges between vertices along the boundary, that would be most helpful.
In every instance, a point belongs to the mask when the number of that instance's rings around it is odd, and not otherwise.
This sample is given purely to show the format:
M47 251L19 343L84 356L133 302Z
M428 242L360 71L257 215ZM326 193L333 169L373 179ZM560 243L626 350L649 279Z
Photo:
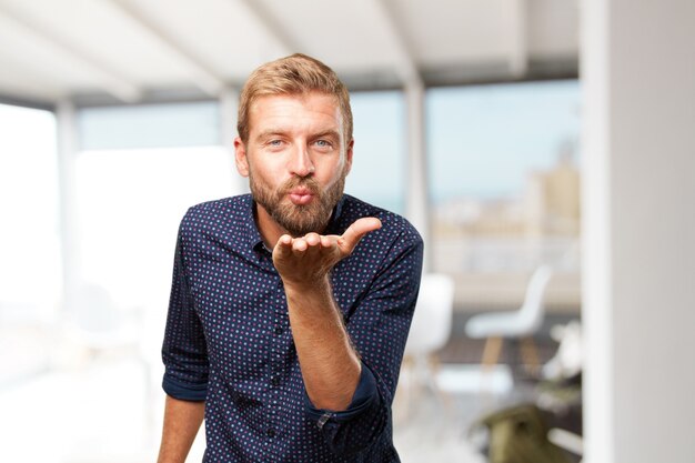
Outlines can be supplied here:
M123 102L134 102L140 98L140 89L129 79L111 69L103 60L82 50L78 44L52 32L44 24L37 23L17 8L0 3L0 14L3 20L11 22L30 40L38 41L42 48L50 50L58 57L64 57L97 76L99 84L105 92Z

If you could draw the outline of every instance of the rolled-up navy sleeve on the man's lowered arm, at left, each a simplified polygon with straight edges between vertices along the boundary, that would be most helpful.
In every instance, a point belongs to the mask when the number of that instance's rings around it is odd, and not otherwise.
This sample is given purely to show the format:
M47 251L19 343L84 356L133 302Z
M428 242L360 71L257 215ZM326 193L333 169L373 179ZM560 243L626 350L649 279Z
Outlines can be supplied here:
M185 218L177 241L169 312L162 344L162 361L165 369L162 387L174 399L204 401L208 395L208 351L187 275L185 264L189 255L184 232Z

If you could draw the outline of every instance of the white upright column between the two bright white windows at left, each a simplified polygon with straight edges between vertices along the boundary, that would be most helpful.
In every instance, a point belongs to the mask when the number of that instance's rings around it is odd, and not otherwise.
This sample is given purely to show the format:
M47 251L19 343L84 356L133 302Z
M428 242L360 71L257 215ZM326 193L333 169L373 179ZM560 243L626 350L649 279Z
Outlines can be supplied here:
M80 285L80 246L77 220L74 161L79 147L74 105L69 100L56 109L58 129L58 190L62 261L62 308L69 308Z

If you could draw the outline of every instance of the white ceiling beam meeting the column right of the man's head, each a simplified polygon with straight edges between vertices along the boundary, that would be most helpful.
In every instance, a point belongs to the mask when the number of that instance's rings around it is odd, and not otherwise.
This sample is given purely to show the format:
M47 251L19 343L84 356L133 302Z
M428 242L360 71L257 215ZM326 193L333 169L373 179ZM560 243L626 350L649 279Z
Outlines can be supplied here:
M417 70L413 53L409 48L405 28L397 23L393 12L389 9L384 0L375 0L366 3L373 6L375 17L391 38L391 48L393 56L396 58L395 71L403 84L422 87L422 77Z

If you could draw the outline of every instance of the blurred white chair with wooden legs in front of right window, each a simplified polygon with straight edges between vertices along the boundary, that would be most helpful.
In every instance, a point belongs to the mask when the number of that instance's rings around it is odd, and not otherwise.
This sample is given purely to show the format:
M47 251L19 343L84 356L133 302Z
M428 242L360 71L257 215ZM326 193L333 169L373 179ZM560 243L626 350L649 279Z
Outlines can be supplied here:
M517 311L482 313L467 321L465 333L469 338L486 339L482 359L485 368L497 363L505 338L520 339L524 364L527 368L540 368L533 335L541 328L545 316L543 298L552 274L550 265L541 265L533 272L526 288L524 303Z

